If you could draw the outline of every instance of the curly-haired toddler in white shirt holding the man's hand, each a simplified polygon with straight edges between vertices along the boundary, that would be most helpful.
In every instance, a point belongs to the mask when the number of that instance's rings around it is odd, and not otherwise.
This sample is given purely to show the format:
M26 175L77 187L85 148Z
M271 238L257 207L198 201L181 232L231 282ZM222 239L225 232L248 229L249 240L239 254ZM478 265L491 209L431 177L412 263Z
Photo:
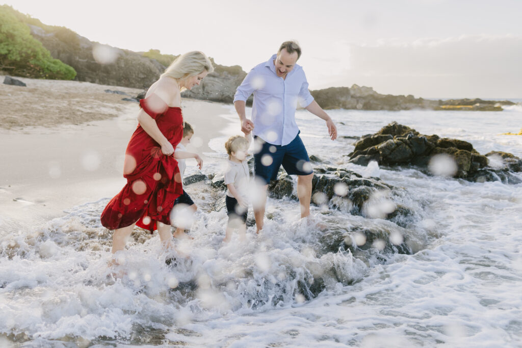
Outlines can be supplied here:
M246 197L250 173L246 164L246 152L250 146L252 136L245 134L244 137L236 135L230 137L225 143L229 155L227 170L224 174L227 185L227 232L223 239L224 243L230 242L232 231L238 229L241 239L245 238L246 214L248 211L248 199Z

